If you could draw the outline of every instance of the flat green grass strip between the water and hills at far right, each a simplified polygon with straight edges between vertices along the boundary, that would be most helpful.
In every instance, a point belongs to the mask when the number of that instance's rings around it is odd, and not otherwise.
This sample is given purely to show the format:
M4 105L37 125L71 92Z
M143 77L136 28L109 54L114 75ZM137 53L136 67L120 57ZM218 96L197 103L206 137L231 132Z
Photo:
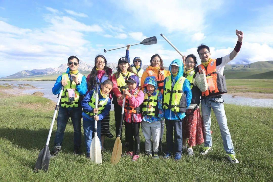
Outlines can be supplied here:
M226 80L229 93L273 93L273 80Z

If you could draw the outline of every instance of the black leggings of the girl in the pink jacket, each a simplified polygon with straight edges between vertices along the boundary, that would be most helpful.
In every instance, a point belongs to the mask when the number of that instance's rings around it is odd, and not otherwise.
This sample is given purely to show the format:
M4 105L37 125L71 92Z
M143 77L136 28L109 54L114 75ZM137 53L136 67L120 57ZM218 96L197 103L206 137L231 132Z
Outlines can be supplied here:
M129 151L133 151L135 138L135 154L138 155L140 151L139 127L140 123L125 123L125 138L129 142Z

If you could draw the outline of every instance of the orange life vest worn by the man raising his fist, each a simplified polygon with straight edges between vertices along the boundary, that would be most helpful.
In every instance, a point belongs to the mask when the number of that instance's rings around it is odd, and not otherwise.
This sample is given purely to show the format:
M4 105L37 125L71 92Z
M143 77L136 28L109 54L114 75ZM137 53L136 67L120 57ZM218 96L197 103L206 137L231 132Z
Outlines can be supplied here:
M207 90L202 92L202 96L209 95L220 95L223 93L227 93L227 86L225 83L225 75L221 75L217 73L216 70L216 59L210 59L209 64L207 65L207 69L203 64L198 65L199 73L202 70L206 71L206 79L207 79Z

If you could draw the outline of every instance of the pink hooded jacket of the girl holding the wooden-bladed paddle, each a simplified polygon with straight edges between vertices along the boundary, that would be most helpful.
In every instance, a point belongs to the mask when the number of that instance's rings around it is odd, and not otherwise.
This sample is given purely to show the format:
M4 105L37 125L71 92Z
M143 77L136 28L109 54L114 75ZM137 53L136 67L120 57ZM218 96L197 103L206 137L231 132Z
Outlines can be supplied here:
M143 103L144 94L143 94L143 91L139 90L137 97L133 96L133 93L135 93L135 91L139 87L139 78L136 75L132 75L128 77L128 80L129 79L133 79L136 82L136 88L134 90L130 90L130 89L128 90L129 93L132 94L132 96L128 98L129 105L132 106L133 108L137 108ZM118 101L118 105L120 105L121 107L122 107L122 103L123 103L123 100ZM142 121L141 117L142 117L141 113L130 114L129 110L126 113L124 113L124 121L126 121L127 123L131 123L132 121L133 123L140 123Z

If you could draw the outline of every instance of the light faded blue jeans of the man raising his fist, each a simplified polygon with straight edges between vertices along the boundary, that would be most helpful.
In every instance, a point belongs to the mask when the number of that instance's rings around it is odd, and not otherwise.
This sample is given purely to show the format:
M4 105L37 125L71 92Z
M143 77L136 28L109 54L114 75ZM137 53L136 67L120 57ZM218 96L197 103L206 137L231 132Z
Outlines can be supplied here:
M227 117L225 116L224 104L222 103L223 99L215 99L215 98L207 98L201 100L201 111L203 117L203 135L204 135L204 143L205 147L212 146L212 139L210 133L210 114L211 109L214 111L216 116L216 120L218 122L223 144L224 150L227 154L235 154L233 150L233 143L231 140L229 128L227 127Z

